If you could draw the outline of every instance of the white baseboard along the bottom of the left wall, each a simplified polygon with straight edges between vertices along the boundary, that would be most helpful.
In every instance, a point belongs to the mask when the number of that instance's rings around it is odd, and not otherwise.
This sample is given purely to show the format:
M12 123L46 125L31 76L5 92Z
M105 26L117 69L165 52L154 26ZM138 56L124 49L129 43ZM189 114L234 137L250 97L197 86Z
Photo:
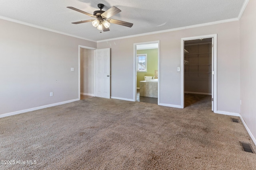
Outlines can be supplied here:
M2 115L0 115L1 117L7 117L7 116L11 116L11 115L17 115L20 113L26 113L28 111L34 111L34 110L39 110L39 109L44 109L46 107L52 107L52 106L58 106L61 104L66 104L66 103L70 103L70 102L75 102L78 101L79 99L74 99L74 100L68 100L68 101L64 101L64 102L59 102L59 103L54 103L54 104L48 104L48 105L44 105L44 106L39 106L39 107L34 107L34 108L30 108L30 109L24 109L24 110L19 110L19 111L14 111L14 112L10 112L10 113L4 113Z

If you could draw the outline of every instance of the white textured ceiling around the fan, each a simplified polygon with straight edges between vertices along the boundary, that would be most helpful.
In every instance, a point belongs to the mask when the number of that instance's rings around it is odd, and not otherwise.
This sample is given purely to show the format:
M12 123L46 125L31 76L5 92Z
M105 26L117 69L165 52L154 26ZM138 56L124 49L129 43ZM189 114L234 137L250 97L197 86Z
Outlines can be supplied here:
M100 41L117 37L238 18L246 0L1 0L0 18L17 20L84 39ZM112 19L134 23L130 27L111 24L100 33L89 23L72 24L94 18L90 14L104 4L106 11L116 6L122 12ZM2 16L2 17L1 17Z

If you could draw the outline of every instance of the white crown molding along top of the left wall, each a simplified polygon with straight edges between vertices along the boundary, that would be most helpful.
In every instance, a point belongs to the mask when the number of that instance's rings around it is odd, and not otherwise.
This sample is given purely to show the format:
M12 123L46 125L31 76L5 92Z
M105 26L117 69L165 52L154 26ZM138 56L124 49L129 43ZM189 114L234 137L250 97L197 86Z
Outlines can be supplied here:
M34 24L31 24L31 23L27 23L27 22L23 22L23 21L19 21L19 20L14 20L12 18L7 18L7 17L4 17L4 16L0 16L0 19L15 22L15 23L20 23L22 25L27 25L27 26L30 26L30 27L35 27L35 28L38 28L38 29L43 29L43 30L46 30L46 31L51 31L51 32L54 32L54 33L59 33L59 34L62 34L62 35L68 35L70 37L75 37L75 38L84 39L84 40L87 40L87 41L92 41L92 42L97 43L97 41L92 40L92 39L86 39L84 37L78 37L76 35L64 33L64 32L57 31L57 30L54 30L54 29L49 29L49 28L46 28L46 27L41 27L41 26L38 26L38 25L34 25Z

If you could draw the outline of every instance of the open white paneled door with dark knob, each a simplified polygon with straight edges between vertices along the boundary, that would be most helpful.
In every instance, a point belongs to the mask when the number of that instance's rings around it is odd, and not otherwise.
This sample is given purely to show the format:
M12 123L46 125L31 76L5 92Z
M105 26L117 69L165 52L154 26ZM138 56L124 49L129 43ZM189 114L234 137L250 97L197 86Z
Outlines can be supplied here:
M110 48L96 49L96 97L110 98Z

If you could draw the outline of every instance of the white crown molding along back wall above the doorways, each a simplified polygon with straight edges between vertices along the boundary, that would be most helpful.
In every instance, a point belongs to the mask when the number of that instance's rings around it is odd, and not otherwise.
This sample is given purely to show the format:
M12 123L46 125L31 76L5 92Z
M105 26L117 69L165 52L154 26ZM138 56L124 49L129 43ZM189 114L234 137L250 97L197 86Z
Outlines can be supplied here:
M140 36L144 36L144 35L152 35L152 34L157 34L157 33L165 33L165 32L170 32L170 31L178 31L178 30L182 30L182 29L189 29L189 28L195 28L195 27L203 27L203 26L207 26L207 25L214 25L214 24L218 24L218 23L226 23L226 22L232 22L232 21L238 21L238 18L232 18L232 19L228 19L228 20L208 22L208 23L201 23L201 24L197 24L197 25L190 25L190 26L186 26L186 27L166 29L166 30L162 30L162 31L154 31L154 32L149 32L149 33L129 35L129 36L125 36L125 37L117 37L117 38L112 38L112 39L104 39L104 40L97 41L97 43L101 43L101 42L105 42L105 41L113 41L113 40L118 40L118 39L132 38L132 37L140 37Z

